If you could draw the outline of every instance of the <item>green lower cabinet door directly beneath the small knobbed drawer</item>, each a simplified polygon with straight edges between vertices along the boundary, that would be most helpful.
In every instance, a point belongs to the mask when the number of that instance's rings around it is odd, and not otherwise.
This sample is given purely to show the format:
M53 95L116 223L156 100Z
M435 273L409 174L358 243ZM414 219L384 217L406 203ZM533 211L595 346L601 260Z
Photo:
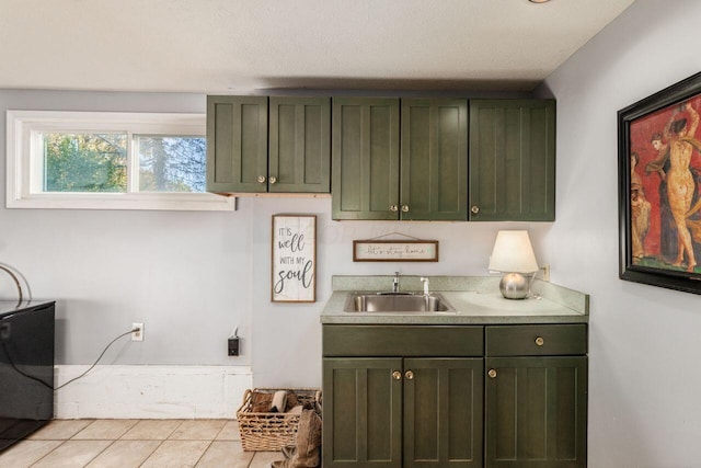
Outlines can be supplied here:
M492 357L486 368L486 467L586 467L586 357Z

